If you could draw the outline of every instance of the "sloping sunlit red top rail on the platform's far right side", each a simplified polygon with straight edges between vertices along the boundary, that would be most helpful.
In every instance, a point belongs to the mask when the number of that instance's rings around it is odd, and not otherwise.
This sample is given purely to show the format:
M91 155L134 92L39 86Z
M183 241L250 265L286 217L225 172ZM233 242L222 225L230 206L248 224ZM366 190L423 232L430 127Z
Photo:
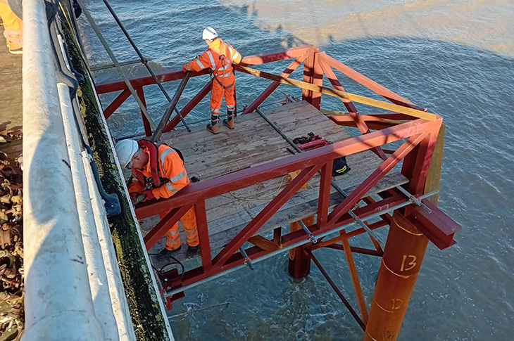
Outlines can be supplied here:
M344 65L343 63L339 62L339 60L335 60L334 58L327 56L325 52L320 52L320 58L328 65L334 67L335 69L342 72L344 75L350 77L354 81L362 84L363 86L367 87L371 91L376 92L380 96L387 98L392 103L403 105L408 108L413 108L416 110L424 110L423 108L419 107L418 105L413 104L412 102L408 101L406 98L403 98L399 96L398 94L395 94L393 91L387 89L385 86L382 86L378 84L377 82L373 82L368 77L365 77L361 73L357 72L356 70L351 69L350 67Z

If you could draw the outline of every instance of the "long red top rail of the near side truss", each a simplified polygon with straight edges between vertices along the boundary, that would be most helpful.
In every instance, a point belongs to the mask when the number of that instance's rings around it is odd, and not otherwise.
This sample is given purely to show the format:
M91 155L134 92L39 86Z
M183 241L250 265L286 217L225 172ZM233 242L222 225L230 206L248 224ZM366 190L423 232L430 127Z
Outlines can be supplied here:
M213 179L207 179L198 184L192 184L192 186L182 188L182 190L171 198L142 202L136 207L136 214L139 219L143 219L174 207L188 204L194 205L197 200L211 198L215 195L234 191L261 181L272 179L276 176L282 176L289 172L296 171L296 169L322 165L337 157L359 153L375 146L382 146L385 143L418 135L434 127L434 124L438 122L439 121L429 122L427 120L418 119L381 131L373 131L370 134L358 136L353 139L339 141L330 146L311 150L309 153L299 153L263 165L257 165L256 167L250 167Z

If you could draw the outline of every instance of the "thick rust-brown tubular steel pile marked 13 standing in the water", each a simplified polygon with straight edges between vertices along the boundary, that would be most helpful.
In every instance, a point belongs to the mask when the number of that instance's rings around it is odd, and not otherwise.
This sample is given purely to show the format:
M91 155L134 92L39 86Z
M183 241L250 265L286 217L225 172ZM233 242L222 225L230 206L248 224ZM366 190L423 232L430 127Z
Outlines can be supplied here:
M398 337L428 238L395 211L378 273L364 341Z

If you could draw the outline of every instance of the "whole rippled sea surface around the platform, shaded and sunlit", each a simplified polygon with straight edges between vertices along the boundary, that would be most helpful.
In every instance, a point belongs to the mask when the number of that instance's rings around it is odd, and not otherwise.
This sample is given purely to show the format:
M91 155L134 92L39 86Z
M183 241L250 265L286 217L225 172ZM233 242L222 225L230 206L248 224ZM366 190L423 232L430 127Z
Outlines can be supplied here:
M111 1L156 72L175 69L205 49L201 30L213 26L243 55L316 44L327 54L444 117L446 142L439 204L463 226L457 245L430 245L399 340L511 340L514 335L514 2L505 1ZM122 32L101 1L89 9L119 60L133 60ZM88 58L107 54L81 18ZM280 72L287 65L264 69ZM131 75L146 75L138 67ZM296 77L301 77L301 72ZM96 82L118 79L96 72ZM268 82L238 75L238 105ZM370 95L341 77L349 92ZM192 79L181 108L205 84ZM173 94L176 82L165 84ZM282 86L272 99L299 91ZM145 88L158 120L165 98ZM104 108L114 98L102 96ZM322 107L342 110L332 98ZM361 109L365 112L367 108ZM190 122L205 119L204 100ZM128 102L108 123L115 136L142 131ZM382 231L386 233L386 231ZM385 236L382 234L382 236ZM356 240L358 243L358 240ZM368 304L380 259L355 255ZM344 255L319 259L356 307ZM287 254L187 292L170 315L230 302L228 307L175 316L179 340L361 340L362 330L317 269L303 281L287 276Z

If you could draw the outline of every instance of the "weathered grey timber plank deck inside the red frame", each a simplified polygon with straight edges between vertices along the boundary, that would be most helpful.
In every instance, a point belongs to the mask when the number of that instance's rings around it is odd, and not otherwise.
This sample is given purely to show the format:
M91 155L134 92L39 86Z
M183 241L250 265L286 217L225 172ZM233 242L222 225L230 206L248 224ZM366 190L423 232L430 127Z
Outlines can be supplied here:
M288 103L267 110L264 114L289 139L307 136L310 132L332 143L352 137L344 128L335 124L306 101ZM292 156L288 150L288 148L292 149L289 143L256 112L239 115L235 123L234 130L221 124L218 135L211 134L204 125L201 125L193 127L192 132L176 130L165 133L163 139L168 146L178 148L182 152L189 178L196 176L201 181ZM349 155L346 159L351 168L350 172L332 178L346 194L350 194L383 162L370 150ZM125 178L128 179L129 176L130 171L125 172ZM366 196L387 191L407 182L408 179L405 176L393 170L373 186ZM219 250L229 243L288 183L289 176L286 174L208 198L206 214L211 251ZM319 183L320 174L316 174L308 180L306 188L294 194L254 236L263 235L279 226L289 226L294 221L316 214ZM343 199L343 196L332 186L330 207L339 204ZM150 231L158 221L160 221L158 215L139 221L143 234ZM180 262L185 262L187 243L184 229L180 229L180 240L182 248L174 257ZM165 238L161 238L161 241L149 250L149 254L158 253L163 249L164 244ZM158 268L170 263L170 259L151 258L154 266Z

